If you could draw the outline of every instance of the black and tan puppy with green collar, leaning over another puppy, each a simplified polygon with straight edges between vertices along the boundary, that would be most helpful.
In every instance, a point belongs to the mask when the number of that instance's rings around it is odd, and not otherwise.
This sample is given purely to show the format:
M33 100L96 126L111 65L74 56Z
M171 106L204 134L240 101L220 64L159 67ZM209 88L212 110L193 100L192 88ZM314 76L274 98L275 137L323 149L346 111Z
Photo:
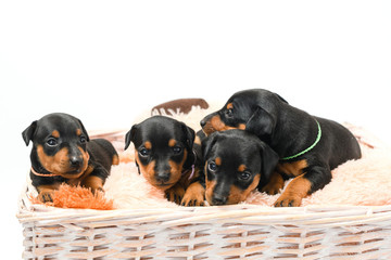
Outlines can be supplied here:
M311 116L267 90L244 90L201 120L206 134L231 128L245 129L265 141L280 157L276 171L262 191L277 194L285 180L294 178L276 207L300 206L302 198L331 180L330 170L361 158L353 134L338 122Z

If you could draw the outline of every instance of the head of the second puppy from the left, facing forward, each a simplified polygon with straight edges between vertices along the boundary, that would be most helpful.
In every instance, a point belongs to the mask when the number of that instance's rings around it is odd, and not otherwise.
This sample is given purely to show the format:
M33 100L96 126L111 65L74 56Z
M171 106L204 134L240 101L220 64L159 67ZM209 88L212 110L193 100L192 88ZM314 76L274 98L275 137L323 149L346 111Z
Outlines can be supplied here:
M134 125L126 133L125 150L135 144L136 164L155 187L167 190L193 162L194 130L175 119L154 116Z

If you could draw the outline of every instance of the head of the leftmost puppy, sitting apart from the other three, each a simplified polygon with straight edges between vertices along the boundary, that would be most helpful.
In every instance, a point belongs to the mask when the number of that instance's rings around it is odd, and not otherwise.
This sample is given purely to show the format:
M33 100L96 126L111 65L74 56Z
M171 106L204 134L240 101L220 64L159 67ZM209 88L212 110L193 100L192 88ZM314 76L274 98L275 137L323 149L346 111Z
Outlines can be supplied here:
M26 145L33 141L30 158L37 171L72 179L83 174L88 167L86 146L89 136L81 121L71 115L46 115L33 121L22 136Z

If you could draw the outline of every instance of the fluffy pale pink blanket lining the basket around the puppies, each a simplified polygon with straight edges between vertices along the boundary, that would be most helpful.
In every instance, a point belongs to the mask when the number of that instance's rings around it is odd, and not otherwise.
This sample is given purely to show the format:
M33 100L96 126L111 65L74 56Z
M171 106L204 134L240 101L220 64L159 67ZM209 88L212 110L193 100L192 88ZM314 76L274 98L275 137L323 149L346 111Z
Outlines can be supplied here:
M199 130L199 120L210 109L193 109L185 114L175 114L174 118L182 120ZM149 115L147 115L149 116ZM140 118L139 120L141 120ZM302 206L380 206L391 204L391 148L364 129L345 125L357 138L363 157L348 161L332 171L332 181L323 190L317 191L302 202ZM124 143L118 141L118 148ZM164 194L151 186L137 171L134 162L134 147L121 153L122 162L112 168L104 188L108 198L113 199L114 207L156 208L180 207L164 198ZM286 186L289 181L286 182ZM257 191L243 204L270 207L279 194L270 196Z

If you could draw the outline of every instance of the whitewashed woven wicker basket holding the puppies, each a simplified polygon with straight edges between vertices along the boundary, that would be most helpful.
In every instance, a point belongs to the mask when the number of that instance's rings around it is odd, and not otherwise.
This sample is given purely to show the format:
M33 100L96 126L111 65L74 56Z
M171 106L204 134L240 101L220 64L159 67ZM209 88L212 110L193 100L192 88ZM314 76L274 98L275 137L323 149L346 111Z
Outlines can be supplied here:
M33 205L29 188L24 259L391 259L391 206L99 211Z

